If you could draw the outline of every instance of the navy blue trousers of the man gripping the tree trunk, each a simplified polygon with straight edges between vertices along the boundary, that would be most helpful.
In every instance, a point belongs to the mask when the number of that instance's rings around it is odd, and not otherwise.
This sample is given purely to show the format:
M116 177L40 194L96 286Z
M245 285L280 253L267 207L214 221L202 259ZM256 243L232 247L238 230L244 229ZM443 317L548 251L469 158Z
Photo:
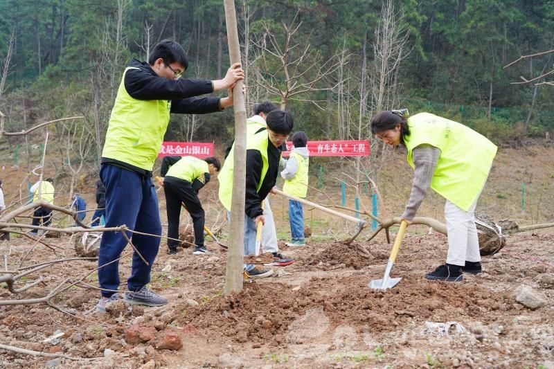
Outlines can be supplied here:
M100 179L106 187L106 227L125 224L135 231L161 235L158 197L152 179L110 164L100 166ZM139 291L150 282L150 271L158 254L160 239L130 232L127 232L127 236L148 261L146 265L136 252L133 253L127 289ZM119 258L125 246L127 240L120 232L104 232L98 253L98 267ZM98 283L102 289L119 288L119 261L98 269ZM104 297L113 294L113 291L102 291Z

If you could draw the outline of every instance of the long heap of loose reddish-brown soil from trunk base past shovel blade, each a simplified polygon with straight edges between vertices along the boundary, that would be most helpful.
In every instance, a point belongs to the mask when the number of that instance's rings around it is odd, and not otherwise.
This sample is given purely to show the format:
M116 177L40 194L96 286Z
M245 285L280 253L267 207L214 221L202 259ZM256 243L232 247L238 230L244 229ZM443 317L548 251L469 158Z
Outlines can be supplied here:
M176 311L186 311L186 316L177 319L256 346L303 343L345 323L380 333L414 321L490 321L492 311L508 309L508 296L474 285L404 278L401 286L383 292L369 289L368 280L314 278L296 290L280 283L271 288L253 283L240 294L214 298L206 305L181 305Z

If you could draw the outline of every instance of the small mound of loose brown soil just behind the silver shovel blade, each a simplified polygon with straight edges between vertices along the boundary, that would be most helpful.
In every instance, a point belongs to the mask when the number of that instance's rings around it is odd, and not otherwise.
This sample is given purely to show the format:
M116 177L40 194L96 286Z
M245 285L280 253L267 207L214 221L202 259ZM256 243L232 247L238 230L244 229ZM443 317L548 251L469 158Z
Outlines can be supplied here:
M319 269L334 269L341 264L344 264L343 267L361 269L368 265L382 264L382 260L387 258L386 251L369 251L363 242L352 242L350 245L345 242L334 242L325 244L324 249L318 253L308 254L303 259L303 263L317 265Z

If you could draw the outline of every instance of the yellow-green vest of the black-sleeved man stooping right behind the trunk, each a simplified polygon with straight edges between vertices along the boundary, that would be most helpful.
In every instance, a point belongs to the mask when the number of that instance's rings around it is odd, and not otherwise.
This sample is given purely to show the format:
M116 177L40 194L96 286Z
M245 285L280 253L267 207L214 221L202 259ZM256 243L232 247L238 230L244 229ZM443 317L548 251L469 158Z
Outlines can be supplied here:
M262 187L262 183L265 179L265 174L267 174L267 169L269 168L269 161L267 159L267 145L269 143L269 136L267 130L255 134L253 136L247 136L247 150L258 150L262 155L262 174L260 176L260 181L258 182L258 188L256 192ZM220 174L217 174L217 180L220 181L220 201L225 206L225 208L231 211L231 201L233 199L233 160L235 157L235 144L231 147L231 152L229 156L225 159L223 168L221 168ZM244 163L246 165L246 163ZM247 168L248 170L248 168Z

